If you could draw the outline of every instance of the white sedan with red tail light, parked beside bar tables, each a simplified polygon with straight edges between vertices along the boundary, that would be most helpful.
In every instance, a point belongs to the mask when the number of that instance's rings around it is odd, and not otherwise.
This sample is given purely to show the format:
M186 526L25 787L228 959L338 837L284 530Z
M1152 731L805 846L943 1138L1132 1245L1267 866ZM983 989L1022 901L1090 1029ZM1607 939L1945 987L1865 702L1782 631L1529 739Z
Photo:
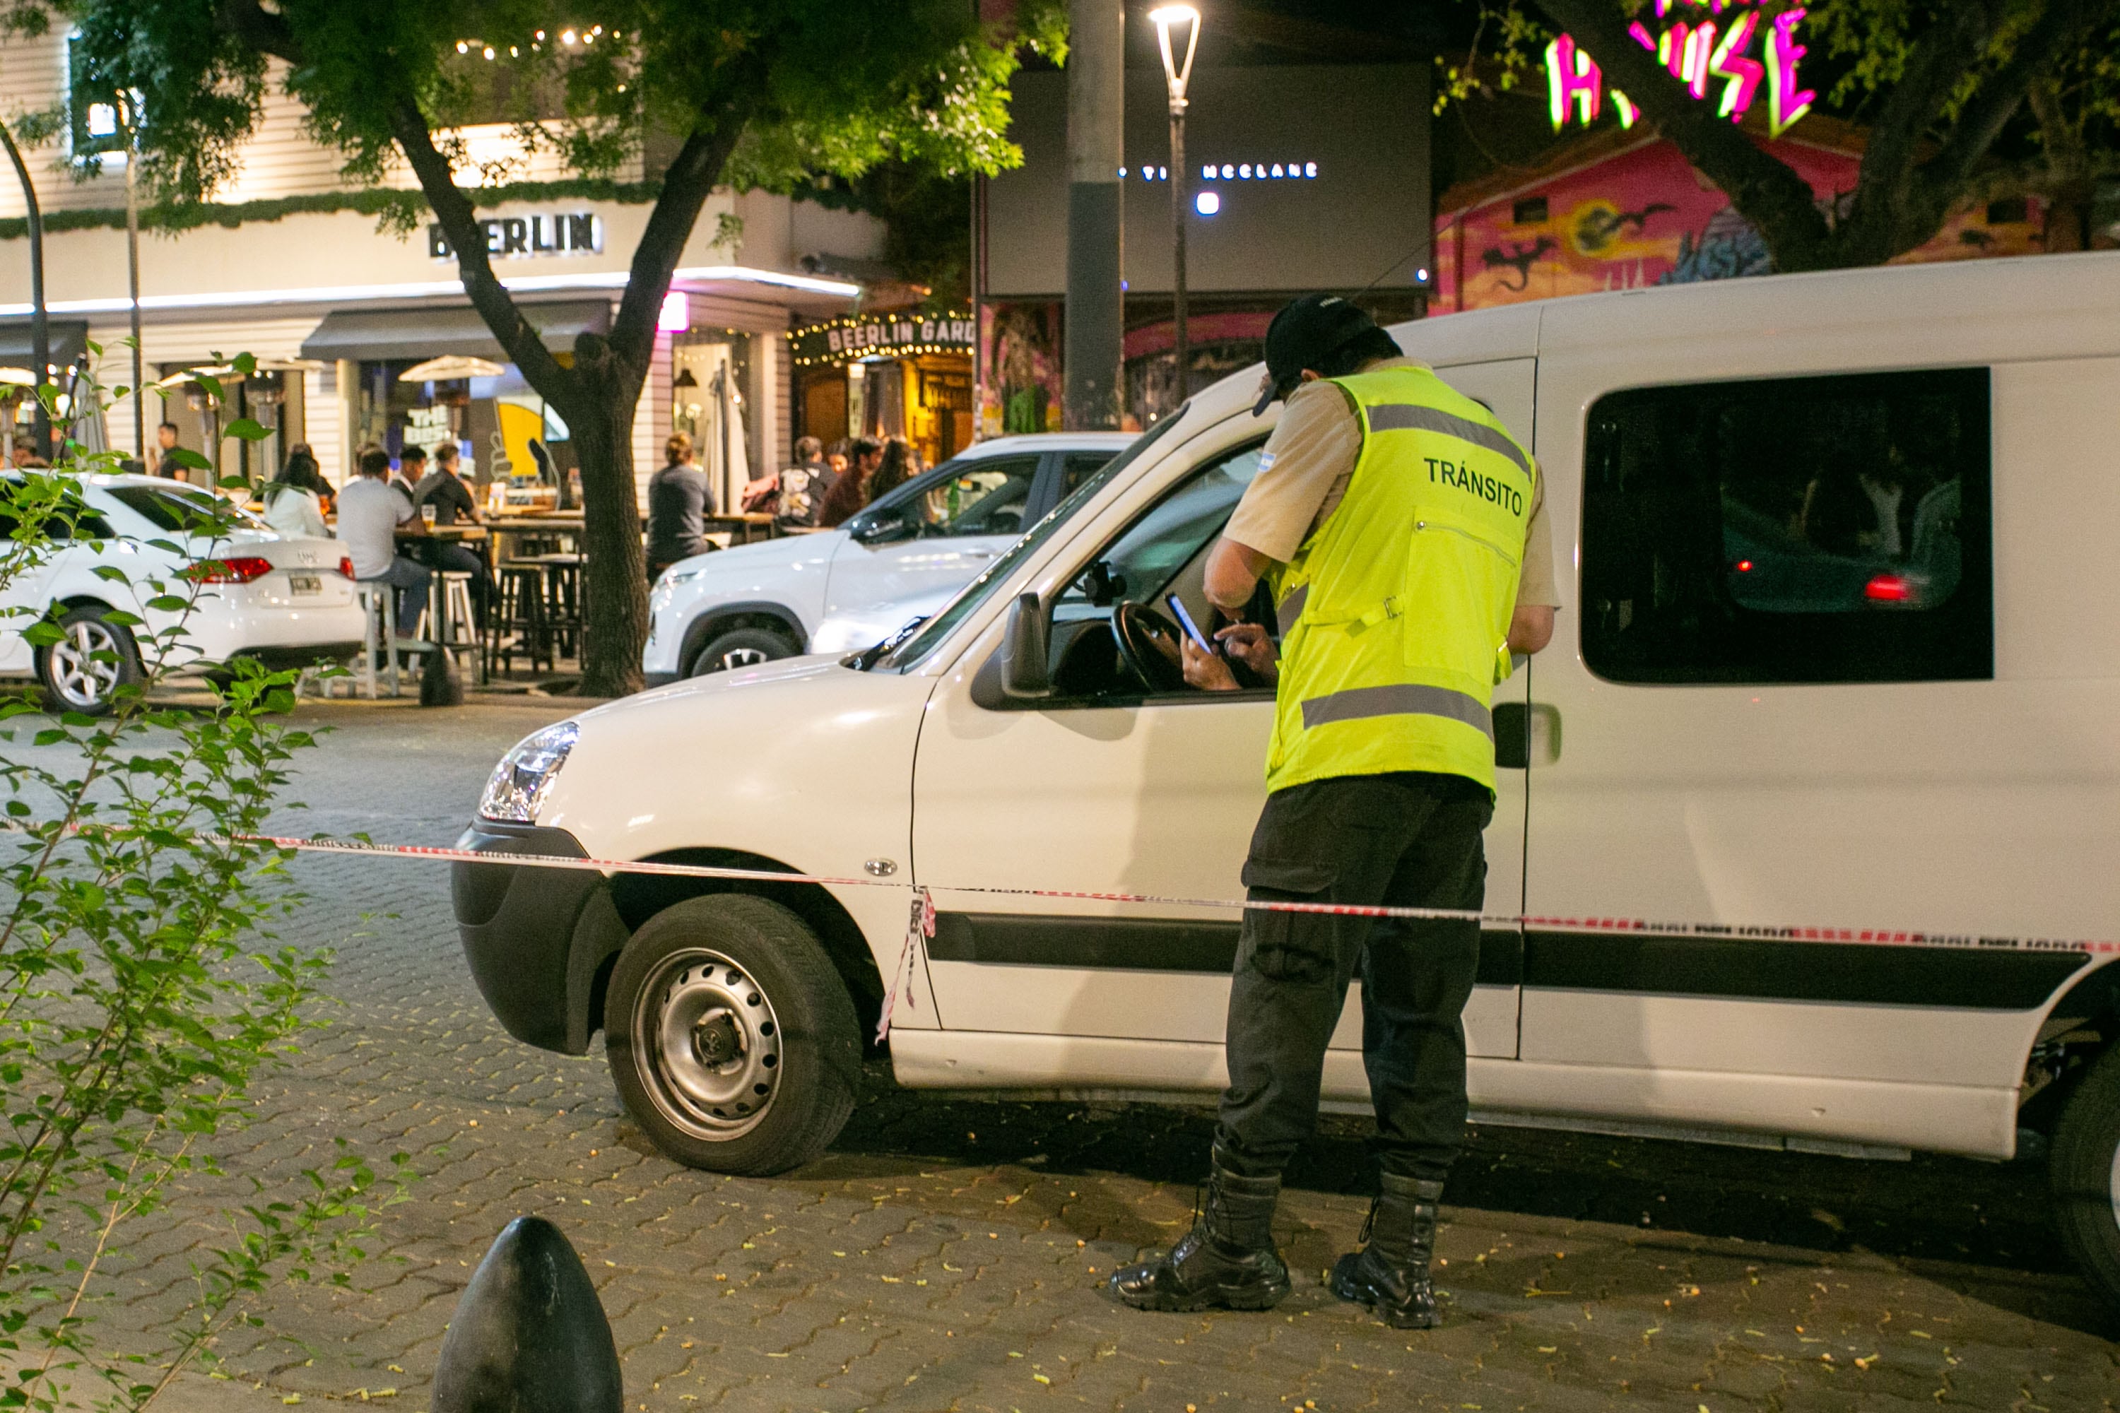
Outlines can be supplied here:
M112 610L144 619L142 636L184 619L180 657L167 663L178 669L237 657L307 667L360 650L354 566L337 540L288 538L242 511L237 527L214 538L227 504L178 481L81 477L78 485L85 511L66 542L0 585L0 610L8 610L0 616L0 676L34 672L55 708L108 712L112 693L140 682L146 667L140 638L112 623ZM0 538L13 532L0 502ZM125 578L98 574L100 568L117 568ZM165 580L167 593L184 595L199 583L189 616L148 610L144 600L155 595L148 580ZM47 608L64 636L32 648L23 629Z

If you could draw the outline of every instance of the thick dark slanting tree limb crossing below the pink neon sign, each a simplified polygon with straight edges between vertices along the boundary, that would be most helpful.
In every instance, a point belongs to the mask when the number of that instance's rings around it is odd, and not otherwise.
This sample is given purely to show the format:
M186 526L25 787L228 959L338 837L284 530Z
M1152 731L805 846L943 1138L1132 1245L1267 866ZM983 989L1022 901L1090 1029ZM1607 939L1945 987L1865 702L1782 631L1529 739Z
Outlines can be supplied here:
M1537 0L1552 21L1596 59L1605 81L1624 91L1694 167L1721 186L1730 205L1760 231L1777 269L1827 263L1832 227L1810 182L1747 138L1736 123L1698 104L1656 55L1626 32L1626 17L1607 0Z

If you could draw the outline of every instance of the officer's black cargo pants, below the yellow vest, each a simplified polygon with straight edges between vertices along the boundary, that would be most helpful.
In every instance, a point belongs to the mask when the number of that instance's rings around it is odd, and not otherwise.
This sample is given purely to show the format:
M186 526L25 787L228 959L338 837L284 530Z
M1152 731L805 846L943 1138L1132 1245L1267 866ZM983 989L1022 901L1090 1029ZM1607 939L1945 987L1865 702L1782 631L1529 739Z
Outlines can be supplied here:
M1251 898L1478 909L1488 792L1463 775L1342 775L1266 799ZM1230 1089L1215 1142L1276 1176L1310 1135L1325 1042L1361 974L1361 1049L1384 1171L1442 1180L1465 1140L1465 1002L1478 922L1244 913L1230 987Z

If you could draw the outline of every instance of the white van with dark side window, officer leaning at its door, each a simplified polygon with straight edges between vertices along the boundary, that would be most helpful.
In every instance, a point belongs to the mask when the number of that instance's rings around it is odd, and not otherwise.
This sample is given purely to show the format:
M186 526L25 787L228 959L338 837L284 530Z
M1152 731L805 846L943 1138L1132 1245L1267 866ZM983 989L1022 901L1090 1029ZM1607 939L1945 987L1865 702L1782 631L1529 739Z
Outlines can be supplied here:
M1554 646L1497 697L1488 911L1730 928L1488 930L1476 1112L1851 1157L2050 1135L2120 1296L2120 970L2078 945L2120 932L2120 254L1393 333L1533 443L1565 559ZM888 648L530 737L466 847L920 883L899 1080L1213 1095L1232 913L960 888L1242 896L1270 695L1166 691L1111 621L1204 610L1255 388L1196 396ZM456 915L515 1036L602 1027L666 1152L774 1171L852 1104L907 892L460 864ZM1365 1102L1359 1044L1348 1006L1329 1102Z

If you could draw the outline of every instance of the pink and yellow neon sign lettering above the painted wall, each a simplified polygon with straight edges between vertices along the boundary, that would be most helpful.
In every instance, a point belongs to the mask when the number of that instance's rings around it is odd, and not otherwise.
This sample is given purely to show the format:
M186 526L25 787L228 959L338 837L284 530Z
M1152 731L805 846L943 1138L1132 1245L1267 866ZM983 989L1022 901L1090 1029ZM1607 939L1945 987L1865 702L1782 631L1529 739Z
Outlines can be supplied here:
M1656 61L1671 70L1671 76L1685 85L1685 91L1700 102L1715 100L1715 117L1738 123L1751 110L1753 100L1766 89L1766 127L1770 138L1789 131L1800 117L1810 112L1817 97L1810 89L1796 87L1796 64L1804 57L1804 47L1796 42L1796 25L1804 11L1783 11L1762 23L1760 11L1741 8L1747 0L1656 0L1656 17L1671 15L1673 4L1704 8L1717 17L1726 11L1734 17L1700 19L1698 23L1675 21L1662 34L1649 34L1639 19L1626 28L1635 42L1656 55ZM1762 38L1766 57L1753 59L1753 40ZM1717 85L1711 89L1711 85ZM1620 127L1632 127L1641 110L1628 102L1620 89L1605 87L1605 74L1596 59L1584 53L1567 34L1545 47L1545 91L1552 108L1554 131L1560 131L1569 114L1588 127L1605 110L1605 95L1611 95Z

